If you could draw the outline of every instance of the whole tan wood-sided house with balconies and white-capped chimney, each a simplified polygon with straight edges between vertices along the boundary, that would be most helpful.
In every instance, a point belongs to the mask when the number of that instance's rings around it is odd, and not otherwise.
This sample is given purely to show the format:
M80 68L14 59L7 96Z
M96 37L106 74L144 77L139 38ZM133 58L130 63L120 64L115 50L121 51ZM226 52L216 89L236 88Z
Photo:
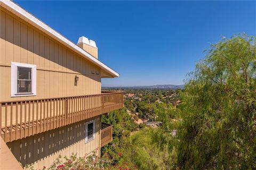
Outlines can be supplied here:
M100 156L112 140L101 116L124 107L123 92L101 92L101 78L119 74L98 60L95 41L74 44L14 2L0 3L0 169Z

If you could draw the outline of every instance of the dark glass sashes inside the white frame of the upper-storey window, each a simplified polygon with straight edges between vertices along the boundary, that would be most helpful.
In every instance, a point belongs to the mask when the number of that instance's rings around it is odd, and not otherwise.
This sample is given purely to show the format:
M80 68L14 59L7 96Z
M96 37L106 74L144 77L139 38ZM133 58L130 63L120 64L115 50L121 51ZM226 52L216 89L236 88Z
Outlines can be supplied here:
M17 92L27 93L31 92L31 68L17 67Z

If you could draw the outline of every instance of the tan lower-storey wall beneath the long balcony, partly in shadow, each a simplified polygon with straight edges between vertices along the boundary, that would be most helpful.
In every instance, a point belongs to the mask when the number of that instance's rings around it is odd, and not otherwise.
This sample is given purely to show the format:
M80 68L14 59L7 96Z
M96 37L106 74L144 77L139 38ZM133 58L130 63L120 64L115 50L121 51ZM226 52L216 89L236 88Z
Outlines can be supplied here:
M99 154L100 116L93 119L96 120L95 139L88 143L85 143L85 123L92 119L6 144L23 167L33 163L35 169L49 167L59 155L69 157L74 152L78 157L84 157L97 149Z

